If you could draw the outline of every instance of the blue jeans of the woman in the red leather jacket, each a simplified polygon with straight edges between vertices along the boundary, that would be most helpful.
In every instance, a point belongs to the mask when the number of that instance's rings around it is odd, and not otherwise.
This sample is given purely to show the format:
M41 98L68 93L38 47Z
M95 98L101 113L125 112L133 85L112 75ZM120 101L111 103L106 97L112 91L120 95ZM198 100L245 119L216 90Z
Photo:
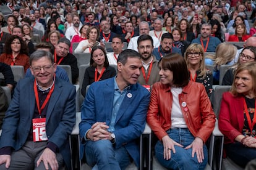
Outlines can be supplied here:
M183 145L184 148L190 145L195 139L187 128L174 128L169 129L166 132L171 139ZM208 152L205 145L203 145L203 155L205 157L203 163L198 163L196 154L194 155L194 158L192 158L192 148L186 150L176 145L174 145L174 147L176 153L173 153L173 150L171 150L171 159L164 160L163 143L160 141L156 143L155 156L161 165L168 169L205 169L208 161Z

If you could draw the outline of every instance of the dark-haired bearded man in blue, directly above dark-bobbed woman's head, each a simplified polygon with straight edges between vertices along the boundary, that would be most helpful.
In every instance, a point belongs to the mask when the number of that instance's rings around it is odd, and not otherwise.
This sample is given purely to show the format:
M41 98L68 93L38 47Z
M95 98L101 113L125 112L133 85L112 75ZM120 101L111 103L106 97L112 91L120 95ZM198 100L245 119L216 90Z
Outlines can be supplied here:
M155 55L156 60L160 60L164 55L169 53L181 54L181 49L173 46L173 34L164 33L161 38L160 46L153 50L153 55Z

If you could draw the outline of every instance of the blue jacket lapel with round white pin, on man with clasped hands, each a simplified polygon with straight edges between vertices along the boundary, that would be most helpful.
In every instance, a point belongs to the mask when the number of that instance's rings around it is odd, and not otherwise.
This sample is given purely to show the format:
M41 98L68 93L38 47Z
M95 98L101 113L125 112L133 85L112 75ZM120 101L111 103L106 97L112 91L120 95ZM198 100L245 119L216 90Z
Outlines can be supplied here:
M137 90L137 84L130 86L130 89L127 91L126 96L124 97L124 100L122 100L122 104L118 110L118 113L116 116L116 123L122 117L122 115L124 115L126 110L129 110L129 108L132 107L130 103L136 98L136 95L137 95L136 90Z

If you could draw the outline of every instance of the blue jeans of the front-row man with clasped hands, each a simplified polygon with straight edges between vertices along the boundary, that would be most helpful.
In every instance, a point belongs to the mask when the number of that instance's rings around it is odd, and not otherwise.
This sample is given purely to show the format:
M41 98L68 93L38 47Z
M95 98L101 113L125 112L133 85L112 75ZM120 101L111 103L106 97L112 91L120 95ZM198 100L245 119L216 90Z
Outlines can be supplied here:
M130 156L126 148L114 148L109 140L87 141L85 159L88 165L96 164L98 169L126 169L130 164Z

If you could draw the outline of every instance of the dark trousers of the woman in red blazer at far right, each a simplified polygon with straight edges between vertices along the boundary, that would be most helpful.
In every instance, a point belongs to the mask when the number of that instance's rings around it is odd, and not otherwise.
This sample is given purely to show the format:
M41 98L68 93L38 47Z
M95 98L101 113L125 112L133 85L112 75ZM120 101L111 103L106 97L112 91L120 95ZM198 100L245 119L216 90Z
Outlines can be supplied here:
M256 149L248 148L242 145L240 142L226 145L227 156L231 158L234 163L245 168L249 161L256 158Z

